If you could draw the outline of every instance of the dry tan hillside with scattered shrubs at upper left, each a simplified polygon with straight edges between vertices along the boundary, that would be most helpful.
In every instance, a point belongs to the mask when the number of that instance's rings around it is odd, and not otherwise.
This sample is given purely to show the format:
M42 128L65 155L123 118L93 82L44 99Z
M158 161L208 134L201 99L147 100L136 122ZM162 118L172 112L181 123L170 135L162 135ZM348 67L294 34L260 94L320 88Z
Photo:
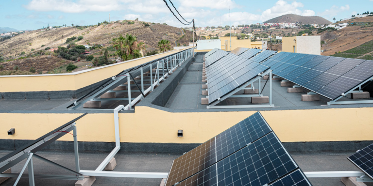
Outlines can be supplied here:
M102 24L100 26L91 26L85 29L76 27L53 28L51 30L36 30L19 34L11 39L0 42L0 55L10 57L19 55L22 51L26 55L35 51L44 49L45 47L66 47L66 39L69 37L83 36L84 39L77 41L78 45L89 44L109 44L114 37L119 34L131 33L137 36L138 40L143 40L149 49L154 49L161 39L168 39L171 46L175 46L175 41L188 45L189 38L192 37L191 31L182 31L180 28L149 23L149 27L145 27L141 21L134 21L135 24L128 25L126 22L117 21L110 24ZM183 36L183 32L185 36ZM31 43L31 45L30 45ZM41 47L44 45L43 47Z

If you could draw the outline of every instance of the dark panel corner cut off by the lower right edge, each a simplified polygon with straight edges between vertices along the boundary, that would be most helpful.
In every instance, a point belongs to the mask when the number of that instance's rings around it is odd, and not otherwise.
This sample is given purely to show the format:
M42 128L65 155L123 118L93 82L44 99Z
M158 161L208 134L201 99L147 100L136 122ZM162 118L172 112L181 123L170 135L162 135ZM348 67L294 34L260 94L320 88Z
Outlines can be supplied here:
M373 179L373 144L348 156L347 159Z

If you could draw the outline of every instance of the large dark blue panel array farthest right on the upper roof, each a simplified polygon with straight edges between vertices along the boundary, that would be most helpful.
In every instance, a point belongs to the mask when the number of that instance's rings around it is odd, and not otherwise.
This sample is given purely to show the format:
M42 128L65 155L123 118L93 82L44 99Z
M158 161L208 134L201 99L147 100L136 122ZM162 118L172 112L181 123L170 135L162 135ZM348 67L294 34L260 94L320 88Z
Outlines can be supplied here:
M280 52L262 63L272 73L329 99L373 77L373 61Z

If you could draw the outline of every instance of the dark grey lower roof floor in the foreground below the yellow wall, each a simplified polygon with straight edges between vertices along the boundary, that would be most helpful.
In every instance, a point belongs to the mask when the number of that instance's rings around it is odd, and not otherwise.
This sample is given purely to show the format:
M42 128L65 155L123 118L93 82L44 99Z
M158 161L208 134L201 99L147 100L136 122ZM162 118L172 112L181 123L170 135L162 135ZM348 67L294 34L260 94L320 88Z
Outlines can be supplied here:
M52 144L51 144L52 145ZM4 156L10 151L0 151L0 156ZM300 168L307 171L359 171L347 156L354 152L315 152L315 153L290 153ZM40 151L38 155L50 159L60 165L72 170L75 169L75 159L73 152L51 152ZM80 152L79 161L82 170L95 170L108 153L102 152ZM181 154L180 154L181 155ZM138 172L169 172L172 161L180 156L179 154L155 154L155 153L123 153L119 151L115 155L117 167L114 171L138 171ZM12 172L20 172L26 160L21 161L12 168ZM67 171L56 168L37 158L33 159L34 174L65 174ZM27 173L27 169L25 170ZM313 186L344 186L340 178L310 178ZM13 186L16 178L9 178L1 186ZM114 178L96 177L92 186L159 186L162 179L153 178ZM66 186L73 185L74 180L51 180L35 179L36 186ZM28 178L21 178L20 186L28 185ZM366 183L373 186L373 183Z

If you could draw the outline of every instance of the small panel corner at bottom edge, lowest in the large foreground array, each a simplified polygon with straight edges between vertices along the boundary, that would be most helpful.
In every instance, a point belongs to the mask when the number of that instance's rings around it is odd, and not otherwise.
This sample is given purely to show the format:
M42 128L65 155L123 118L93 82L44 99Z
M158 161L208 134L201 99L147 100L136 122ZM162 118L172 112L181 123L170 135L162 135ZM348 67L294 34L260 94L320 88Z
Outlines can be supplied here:
M269 186L312 186L301 170L296 170Z

